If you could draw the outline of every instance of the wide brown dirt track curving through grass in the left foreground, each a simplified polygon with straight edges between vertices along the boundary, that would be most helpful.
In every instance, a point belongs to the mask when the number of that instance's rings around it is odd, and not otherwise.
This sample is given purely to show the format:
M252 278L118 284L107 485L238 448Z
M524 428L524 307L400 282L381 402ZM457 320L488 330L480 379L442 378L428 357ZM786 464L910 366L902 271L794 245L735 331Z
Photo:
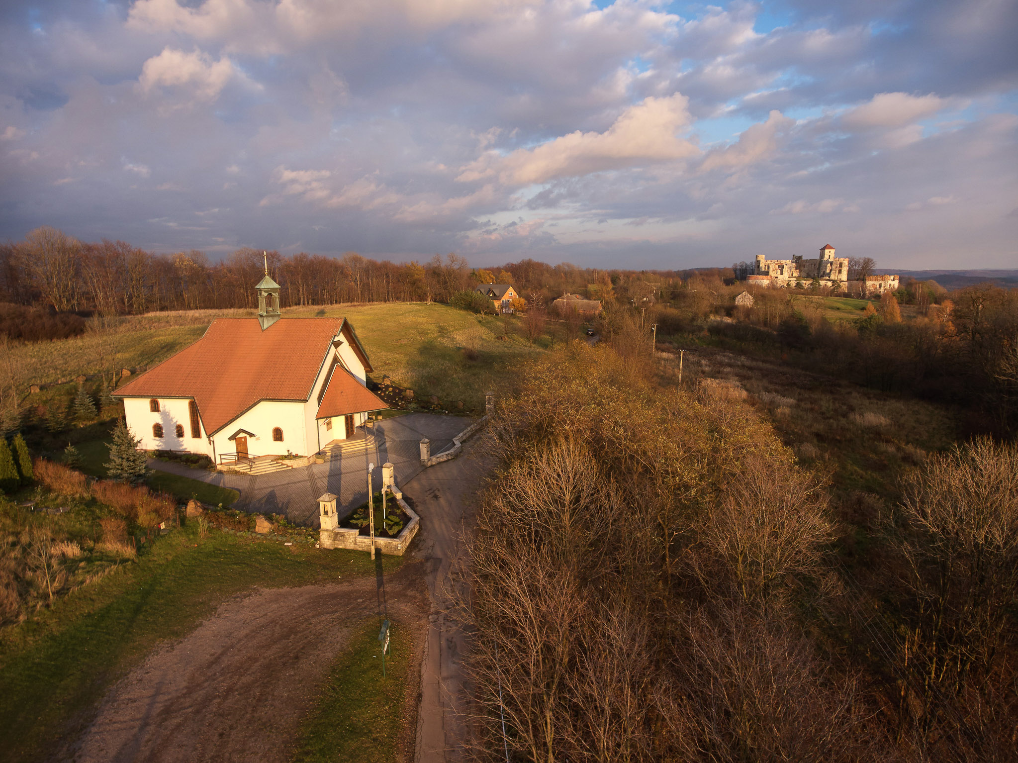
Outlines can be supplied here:
M404 565L385 584L389 616L414 631L428 611L420 566ZM289 760L330 663L377 611L374 577L229 600L117 684L61 759Z

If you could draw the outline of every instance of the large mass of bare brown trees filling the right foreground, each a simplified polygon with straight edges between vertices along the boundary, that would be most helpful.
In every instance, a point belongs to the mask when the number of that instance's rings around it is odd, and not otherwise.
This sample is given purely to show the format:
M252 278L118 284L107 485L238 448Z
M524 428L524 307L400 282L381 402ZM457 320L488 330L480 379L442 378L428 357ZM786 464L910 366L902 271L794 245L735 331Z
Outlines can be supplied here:
M860 580L823 478L748 404L659 385L638 336L538 361L491 425L478 758L1013 760L1018 450L910 473Z

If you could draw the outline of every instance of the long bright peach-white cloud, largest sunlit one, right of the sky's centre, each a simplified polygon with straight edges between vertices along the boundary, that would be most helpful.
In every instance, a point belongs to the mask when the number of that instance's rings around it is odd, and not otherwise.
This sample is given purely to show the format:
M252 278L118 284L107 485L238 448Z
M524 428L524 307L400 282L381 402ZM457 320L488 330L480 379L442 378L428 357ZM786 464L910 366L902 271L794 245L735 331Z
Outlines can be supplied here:
M623 111L604 132L576 130L505 157L490 152L456 179L469 182L497 175L503 183L526 185L694 156L698 149L676 135L689 125L687 105L688 99L678 93L651 96Z

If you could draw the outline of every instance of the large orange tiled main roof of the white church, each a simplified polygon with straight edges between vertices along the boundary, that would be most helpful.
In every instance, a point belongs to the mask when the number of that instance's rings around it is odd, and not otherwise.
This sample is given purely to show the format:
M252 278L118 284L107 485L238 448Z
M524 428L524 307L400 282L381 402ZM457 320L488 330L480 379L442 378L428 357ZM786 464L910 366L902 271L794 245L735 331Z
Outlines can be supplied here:
M193 397L214 434L260 400L306 400L342 325L341 318L281 318L263 331L257 318L220 318L116 395Z

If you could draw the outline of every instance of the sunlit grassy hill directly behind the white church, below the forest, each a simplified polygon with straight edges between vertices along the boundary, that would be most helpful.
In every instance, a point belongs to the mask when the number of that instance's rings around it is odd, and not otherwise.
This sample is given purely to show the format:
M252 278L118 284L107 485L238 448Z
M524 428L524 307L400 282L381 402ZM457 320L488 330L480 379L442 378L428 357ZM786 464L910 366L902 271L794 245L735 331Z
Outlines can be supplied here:
M201 338L215 319L245 315L253 312L202 310L92 321L82 336L10 347L9 369L18 390L26 391L30 384L56 385L79 374L151 368ZM516 363L560 340L563 330L550 323L551 333L530 344L514 316L482 317L425 303L289 308L283 315L345 316L371 357L376 378L388 375L418 398L435 394L473 408L483 404L488 388L512 378ZM45 404L75 389L73 381L65 381L31 395L29 402Z

